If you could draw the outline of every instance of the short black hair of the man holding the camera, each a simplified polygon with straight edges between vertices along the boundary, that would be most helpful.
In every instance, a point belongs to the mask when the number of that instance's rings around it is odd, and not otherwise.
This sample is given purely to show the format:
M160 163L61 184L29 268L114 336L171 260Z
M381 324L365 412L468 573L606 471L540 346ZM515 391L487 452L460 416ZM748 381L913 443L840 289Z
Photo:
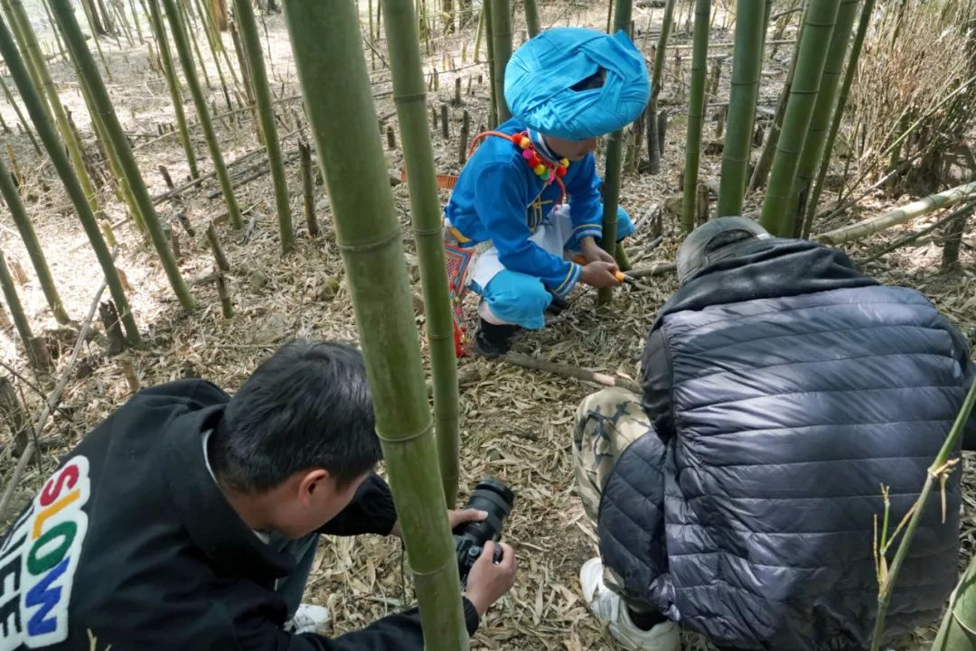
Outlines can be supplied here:
M345 487L382 456L362 355L342 343L285 344L227 403L208 447L214 474L235 490L265 492L307 468Z

